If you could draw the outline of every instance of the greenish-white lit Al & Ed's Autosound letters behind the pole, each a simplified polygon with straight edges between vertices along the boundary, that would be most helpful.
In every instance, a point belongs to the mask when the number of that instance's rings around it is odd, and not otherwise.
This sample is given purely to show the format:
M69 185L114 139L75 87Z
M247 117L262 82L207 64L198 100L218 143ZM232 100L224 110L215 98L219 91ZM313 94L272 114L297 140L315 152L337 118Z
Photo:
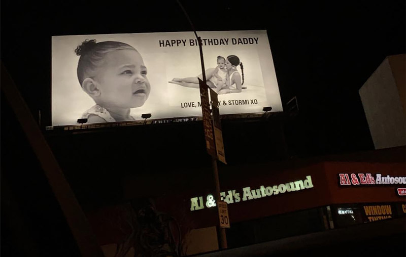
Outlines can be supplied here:
M228 190L226 192L221 192L220 200L225 201L228 204L234 202L247 201L252 199L258 199L262 197L284 194L286 192L299 191L303 189L313 188L312 177L306 176L305 180L298 180L293 182L288 182L285 184L279 184L275 186L260 186L256 189L251 189L251 187L244 187L241 192L236 190ZM216 200L214 196L209 194L205 198L203 196L190 198L190 210L204 209L205 207L211 208L216 206Z

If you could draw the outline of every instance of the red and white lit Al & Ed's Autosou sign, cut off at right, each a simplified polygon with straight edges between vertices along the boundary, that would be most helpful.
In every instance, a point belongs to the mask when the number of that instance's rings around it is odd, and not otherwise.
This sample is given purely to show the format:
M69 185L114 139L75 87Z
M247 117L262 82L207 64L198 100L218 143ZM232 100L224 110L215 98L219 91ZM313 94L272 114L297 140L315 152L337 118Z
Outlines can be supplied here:
M406 177L393 177L390 175L382 176L376 174L375 178L370 173L340 173L340 186L358 186L358 185L396 185L406 184Z

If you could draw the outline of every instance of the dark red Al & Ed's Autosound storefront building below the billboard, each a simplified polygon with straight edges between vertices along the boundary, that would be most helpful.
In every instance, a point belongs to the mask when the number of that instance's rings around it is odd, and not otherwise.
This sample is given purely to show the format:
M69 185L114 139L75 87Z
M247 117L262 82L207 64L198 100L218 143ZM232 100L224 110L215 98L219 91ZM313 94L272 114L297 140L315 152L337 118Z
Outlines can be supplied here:
M404 152L397 147L318 160L220 166L221 200L228 203L230 221L228 248L405 217ZM167 231L181 255L219 248L214 183L206 172L183 174L189 183L177 189L157 185L151 200L152 209L167 217ZM134 204L139 200L131 201L142 191L135 181L125 179L124 189L132 208L140 209L142 204ZM122 210L114 206L88 213L104 249L126 235L117 232L119 226L106 227L106 219L117 220ZM103 213L109 212L106 218Z

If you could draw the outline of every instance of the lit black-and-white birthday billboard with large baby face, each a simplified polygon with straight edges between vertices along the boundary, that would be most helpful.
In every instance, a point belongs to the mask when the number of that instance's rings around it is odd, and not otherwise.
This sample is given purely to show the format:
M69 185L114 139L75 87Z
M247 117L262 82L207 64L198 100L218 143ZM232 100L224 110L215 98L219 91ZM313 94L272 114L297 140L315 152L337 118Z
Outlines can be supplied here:
M197 34L220 114L282 111L265 30ZM53 36L52 125L201 116L199 75L193 32Z

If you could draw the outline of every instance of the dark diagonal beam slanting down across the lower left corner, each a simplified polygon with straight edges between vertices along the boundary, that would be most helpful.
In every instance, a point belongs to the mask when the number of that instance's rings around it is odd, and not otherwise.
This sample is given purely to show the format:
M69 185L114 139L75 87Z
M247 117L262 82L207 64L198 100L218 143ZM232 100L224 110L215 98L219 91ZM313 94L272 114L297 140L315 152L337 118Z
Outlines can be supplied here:
M15 112L22 130L41 164L44 175L49 182L52 193L59 203L81 256L104 256L103 251L97 243L96 236L92 231L71 186L66 181L51 148L40 130L40 127L37 125L36 120L32 116L28 106L3 63L1 64L1 72L2 94L5 95Z

